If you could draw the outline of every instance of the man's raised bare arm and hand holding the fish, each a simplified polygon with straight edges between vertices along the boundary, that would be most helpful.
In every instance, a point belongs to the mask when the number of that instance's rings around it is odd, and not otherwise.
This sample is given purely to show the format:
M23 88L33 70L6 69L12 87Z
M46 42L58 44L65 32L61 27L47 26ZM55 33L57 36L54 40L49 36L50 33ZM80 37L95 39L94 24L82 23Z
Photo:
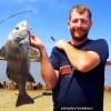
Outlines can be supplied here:
M39 50L41 58L41 74L48 89L53 89L59 79L59 71L54 70L39 38L30 36L30 44Z

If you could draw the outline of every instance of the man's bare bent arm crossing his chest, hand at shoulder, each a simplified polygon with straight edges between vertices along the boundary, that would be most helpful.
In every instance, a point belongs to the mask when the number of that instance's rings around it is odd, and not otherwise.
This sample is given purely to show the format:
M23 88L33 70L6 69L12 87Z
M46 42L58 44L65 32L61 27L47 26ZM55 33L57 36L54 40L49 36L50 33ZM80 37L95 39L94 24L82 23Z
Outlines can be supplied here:
M100 63L100 57L94 51L79 50L64 40L58 41L56 47L63 50L72 67L81 72L88 72Z

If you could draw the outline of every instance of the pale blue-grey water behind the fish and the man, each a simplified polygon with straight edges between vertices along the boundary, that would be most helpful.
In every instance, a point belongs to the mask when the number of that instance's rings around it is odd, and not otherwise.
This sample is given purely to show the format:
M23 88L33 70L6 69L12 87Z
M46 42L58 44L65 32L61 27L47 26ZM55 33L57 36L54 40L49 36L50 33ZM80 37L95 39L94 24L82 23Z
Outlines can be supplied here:
M9 81L6 74L7 62L4 60L0 60L0 81ZM33 75L36 82L44 83L41 78L40 71L40 62L31 62L30 64L30 72ZM111 65L105 67L105 74L104 74L104 85L111 87Z

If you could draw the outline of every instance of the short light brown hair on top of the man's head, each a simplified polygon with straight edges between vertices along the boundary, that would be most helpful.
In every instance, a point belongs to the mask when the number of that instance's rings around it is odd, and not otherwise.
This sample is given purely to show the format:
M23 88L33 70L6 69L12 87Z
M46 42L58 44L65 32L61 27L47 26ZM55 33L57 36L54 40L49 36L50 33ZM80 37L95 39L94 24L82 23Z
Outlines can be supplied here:
M69 13L69 20L71 19L71 13L73 12L73 10L75 10L79 13L83 13L83 12L88 11L89 19L91 20L91 18L92 18L92 13L91 13L91 10L89 9L89 7L83 6L83 4L77 4L71 8L70 13Z

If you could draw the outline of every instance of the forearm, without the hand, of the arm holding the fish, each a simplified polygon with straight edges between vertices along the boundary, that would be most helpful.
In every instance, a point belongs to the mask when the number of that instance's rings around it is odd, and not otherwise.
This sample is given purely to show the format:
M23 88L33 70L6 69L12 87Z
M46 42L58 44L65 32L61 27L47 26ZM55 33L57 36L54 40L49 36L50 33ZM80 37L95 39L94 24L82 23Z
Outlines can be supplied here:
M48 89L52 89L58 81L56 71L52 68L44 47L40 49L41 73Z

